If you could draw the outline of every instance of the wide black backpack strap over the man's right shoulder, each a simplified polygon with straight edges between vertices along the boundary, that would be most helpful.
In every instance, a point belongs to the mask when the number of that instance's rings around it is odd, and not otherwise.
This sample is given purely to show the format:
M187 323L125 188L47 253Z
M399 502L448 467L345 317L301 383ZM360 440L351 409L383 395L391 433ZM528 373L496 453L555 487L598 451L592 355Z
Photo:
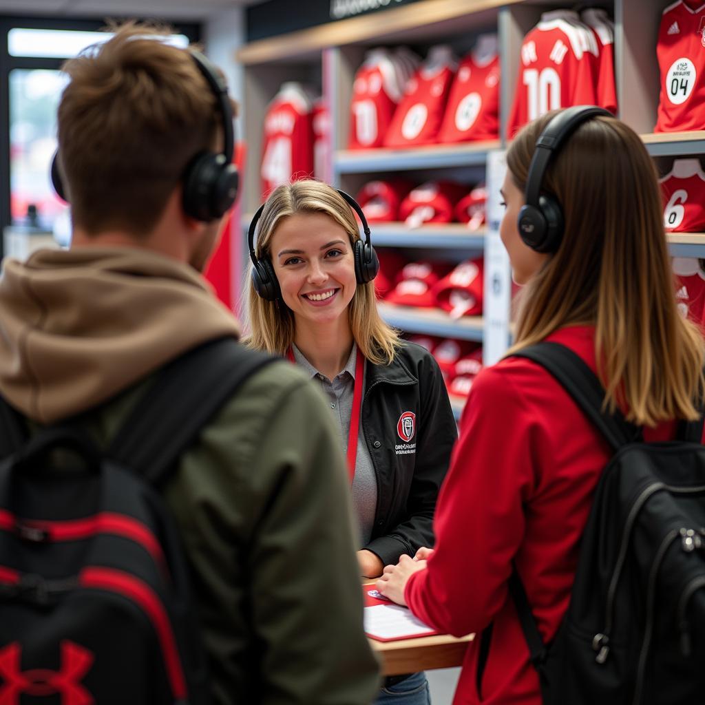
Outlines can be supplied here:
M164 482L200 430L260 367L278 358L235 338L200 345L169 362L118 430L108 458L150 484Z

